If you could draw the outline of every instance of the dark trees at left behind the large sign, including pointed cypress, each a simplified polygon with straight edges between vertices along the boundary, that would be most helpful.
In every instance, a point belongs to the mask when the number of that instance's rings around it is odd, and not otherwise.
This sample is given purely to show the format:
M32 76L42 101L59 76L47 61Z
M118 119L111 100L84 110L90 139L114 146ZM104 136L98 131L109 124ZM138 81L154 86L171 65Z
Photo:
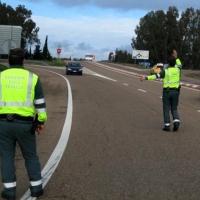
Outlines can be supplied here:
M0 1L0 25L21 26L21 48L26 52L26 58L35 60L51 60L51 54L48 50L48 36L46 36L43 49L40 47L40 39L38 38L39 27L31 19L32 12L25 8L24 5L18 5L15 9ZM31 47L35 44L32 53ZM1 56L2 58L5 55Z

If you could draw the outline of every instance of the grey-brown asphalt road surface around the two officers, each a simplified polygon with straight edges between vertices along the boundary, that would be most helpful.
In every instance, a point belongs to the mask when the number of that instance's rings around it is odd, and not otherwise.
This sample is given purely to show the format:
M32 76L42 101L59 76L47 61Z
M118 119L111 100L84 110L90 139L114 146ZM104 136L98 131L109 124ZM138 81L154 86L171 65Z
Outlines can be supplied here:
M199 199L199 91L182 88L177 133L162 131L162 84L83 63L83 76L66 76L73 99L69 141L61 162L38 199ZM38 68L49 120L37 137L45 166L67 113L65 80ZM46 69L46 68L44 68ZM17 151L20 187L28 188Z

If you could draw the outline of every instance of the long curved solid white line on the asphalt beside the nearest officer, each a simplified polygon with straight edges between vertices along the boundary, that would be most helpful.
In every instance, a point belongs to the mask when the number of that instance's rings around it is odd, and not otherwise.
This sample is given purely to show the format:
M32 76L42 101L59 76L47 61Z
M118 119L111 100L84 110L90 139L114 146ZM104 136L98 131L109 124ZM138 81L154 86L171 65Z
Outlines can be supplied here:
M42 69L44 70L44 69ZM62 155L65 151L65 148L67 146L67 142L70 135L71 130L71 124L72 124L72 111L73 111L73 103L72 103L72 92L71 92L71 86L69 81L61 74L58 74L56 72L50 71L50 70L44 70L49 71L51 73L57 74L61 77L63 77L67 82L68 87L68 105L67 105L67 116L65 119L65 123L63 126L61 137L51 154L51 157L49 158L48 162L46 163L45 167L42 170L42 177L43 177L43 187L47 184L51 176L53 175L53 172L55 171L56 167L58 166ZM30 189L24 194L24 196L21 198L21 200L33 200L36 199L35 197L30 196Z

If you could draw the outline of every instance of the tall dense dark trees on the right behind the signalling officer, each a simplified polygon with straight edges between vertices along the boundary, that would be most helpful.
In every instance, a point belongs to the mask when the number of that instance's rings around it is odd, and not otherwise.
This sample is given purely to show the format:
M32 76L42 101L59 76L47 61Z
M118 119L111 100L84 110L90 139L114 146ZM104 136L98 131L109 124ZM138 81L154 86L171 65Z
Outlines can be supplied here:
M185 69L200 69L200 10L187 8L179 16L176 7L148 12L135 28L131 46L135 50L148 50L149 62L167 63L173 49ZM132 54L116 49L116 62L134 63ZM140 62L141 60L137 60Z

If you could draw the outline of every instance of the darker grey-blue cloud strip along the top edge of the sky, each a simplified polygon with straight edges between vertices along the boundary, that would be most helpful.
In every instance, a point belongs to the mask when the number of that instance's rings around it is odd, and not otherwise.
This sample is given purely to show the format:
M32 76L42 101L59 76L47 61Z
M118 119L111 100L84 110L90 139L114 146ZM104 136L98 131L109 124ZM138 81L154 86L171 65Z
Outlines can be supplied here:
M35 0L36 2L46 2L47 0ZM28 0L32 2L32 0ZM127 10L167 10L169 6L175 6L177 9L185 10L186 8L199 8L199 0L48 0L48 3L52 2L60 7L70 8L70 7L83 7L83 6L95 6L97 8L103 9L117 9L122 11Z

